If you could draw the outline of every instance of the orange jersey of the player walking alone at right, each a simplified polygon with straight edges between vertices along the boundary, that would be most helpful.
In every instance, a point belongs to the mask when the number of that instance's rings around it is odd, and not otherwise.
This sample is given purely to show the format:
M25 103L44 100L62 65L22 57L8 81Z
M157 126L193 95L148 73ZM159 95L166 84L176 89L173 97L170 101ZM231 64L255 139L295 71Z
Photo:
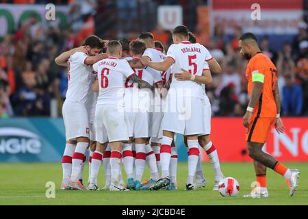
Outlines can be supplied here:
M250 97L253 90L253 74L261 76L259 78L264 79L261 96L259 102L254 107L253 117L275 118L277 107L273 92L277 83L277 68L270 58L262 53L257 53L257 55L251 58L246 68L248 94Z

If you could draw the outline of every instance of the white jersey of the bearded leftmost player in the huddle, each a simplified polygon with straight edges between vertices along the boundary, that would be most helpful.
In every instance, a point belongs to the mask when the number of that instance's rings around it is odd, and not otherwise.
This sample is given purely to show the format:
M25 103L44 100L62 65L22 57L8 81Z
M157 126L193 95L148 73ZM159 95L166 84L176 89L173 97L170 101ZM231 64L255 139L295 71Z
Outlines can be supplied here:
M92 69L84 64L85 53L77 52L68 59L68 89L66 99L86 104L89 90L92 90Z

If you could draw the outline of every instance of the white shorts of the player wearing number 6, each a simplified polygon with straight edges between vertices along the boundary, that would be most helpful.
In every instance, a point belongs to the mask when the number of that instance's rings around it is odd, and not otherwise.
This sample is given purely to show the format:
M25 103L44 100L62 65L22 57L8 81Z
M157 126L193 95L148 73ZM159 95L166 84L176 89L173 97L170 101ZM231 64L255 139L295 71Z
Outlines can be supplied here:
M95 111L95 129L100 143L129 140L124 110L120 112L116 105L97 105ZM106 135L104 134L107 133ZM101 142L103 140L103 142Z

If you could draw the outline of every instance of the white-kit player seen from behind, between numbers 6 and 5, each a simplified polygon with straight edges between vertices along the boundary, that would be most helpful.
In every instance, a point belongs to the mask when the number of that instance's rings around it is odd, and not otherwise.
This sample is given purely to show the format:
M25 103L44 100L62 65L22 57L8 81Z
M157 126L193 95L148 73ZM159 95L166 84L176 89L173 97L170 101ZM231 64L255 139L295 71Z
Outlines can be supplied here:
M130 43L131 53L133 54L133 60L139 60L146 50L146 45L140 40L133 40ZM136 75L151 86L155 88L162 88L162 77L157 73L157 70L152 68L134 68ZM127 81L125 92L125 104L127 104L127 112L125 114L125 120L127 121L127 127L129 130L129 136L135 138L136 147L136 160L135 160L135 181L133 185L134 190L140 190L141 178L144 172L146 163L146 153L149 153L146 149L146 142L149 138L149 112L151 111L151 101L153 92L151 90L138 90L136 86L130 81ZM147 146L151 149L151 146ZM125 149L123 149L125 150ZM125 153L130 153L126 152ZM159 179L159 173L156 166L155 155L152 153L154 159L150 165L154 165L150 170L155 168L155 172L151 172L153 179L157 181ZM123 155L124 159L124 155ZM152 164L153 163L153 164ZM128 185L131 186L132 181L128 176Z

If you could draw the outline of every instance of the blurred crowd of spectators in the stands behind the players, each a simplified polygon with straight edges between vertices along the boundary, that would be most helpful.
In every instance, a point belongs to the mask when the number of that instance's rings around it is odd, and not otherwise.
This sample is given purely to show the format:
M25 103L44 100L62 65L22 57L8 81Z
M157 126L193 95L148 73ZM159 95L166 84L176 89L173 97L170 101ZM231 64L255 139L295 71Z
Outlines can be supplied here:
M31 1L35 3L36 1ZM44 2L44 1L42 1ZM66 3L66 1L59 1ZM98 32L94 27L102 13L101 2L115 11L117 24L112 31ZM140 4L190 4L186 0L88 0L69 1L68 26L60 29L46 25L30 16L20 23L12 34L0 40L0 118L12 116L50 116L51 100L57 101L57 112L61 115L62 103L67 89L67 69L55 64L54 59L63 51L78 47L90 34L101 38L136 38L140 31L151 31L155 40L161 41L165 49L172 43L169 31L153 21L136 23L140 16L156 13L156 8L140 14ZM204 1L196 1L202 4ZM127 4L129 3L129 4ZM195 10L194 5L186 10ZM135 11L136 10L136 11ZM105 13L106 14L106 13ZM145 20L146 21L146 20ZM210 38L203 38L198 27L192 27L194 18L184 18L194 32L197 42L204 44L222 66L221 75L214 74L213 83L207 85L214 116L242 116L248 104L244 60L238 51L238 38L242 28L235 26L233 35L224 34L224 25L216 24ZM109 20L105 20L108 23ZM146 25L148 23L148 25ZM114 29L113 29L114 28ZM298 35L272 51L267 36L259 36L259 45L278 69L278 84L284 116L308 116L308 28L307 23L298 25Z

